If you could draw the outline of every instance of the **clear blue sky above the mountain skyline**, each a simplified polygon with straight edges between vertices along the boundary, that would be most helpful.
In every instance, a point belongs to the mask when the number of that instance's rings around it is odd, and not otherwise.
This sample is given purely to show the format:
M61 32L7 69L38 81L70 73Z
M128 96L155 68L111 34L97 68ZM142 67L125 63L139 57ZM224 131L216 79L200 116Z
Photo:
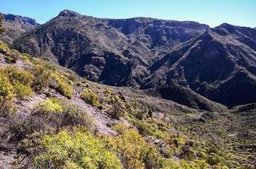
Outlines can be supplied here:
M193 20L256 27L256 0L0 0L0 12L36 19L40 24L63 9L98 18Z

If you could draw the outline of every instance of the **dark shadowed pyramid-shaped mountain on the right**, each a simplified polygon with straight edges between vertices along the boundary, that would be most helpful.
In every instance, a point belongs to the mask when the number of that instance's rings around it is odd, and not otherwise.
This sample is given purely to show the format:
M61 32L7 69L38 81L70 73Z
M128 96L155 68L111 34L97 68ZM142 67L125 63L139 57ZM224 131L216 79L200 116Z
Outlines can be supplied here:
M256 30L223 24L153 63L145 87L177 83L226 106L255 102L255 51Z

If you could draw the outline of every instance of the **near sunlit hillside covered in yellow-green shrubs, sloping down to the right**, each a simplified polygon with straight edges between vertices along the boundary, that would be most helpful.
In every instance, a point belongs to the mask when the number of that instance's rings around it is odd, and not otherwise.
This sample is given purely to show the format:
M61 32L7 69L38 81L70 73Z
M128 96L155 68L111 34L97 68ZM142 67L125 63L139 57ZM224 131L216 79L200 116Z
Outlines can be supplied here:
M0 52L0 167L255 165L254 106L200 111L150 90L93 83L3 43Z

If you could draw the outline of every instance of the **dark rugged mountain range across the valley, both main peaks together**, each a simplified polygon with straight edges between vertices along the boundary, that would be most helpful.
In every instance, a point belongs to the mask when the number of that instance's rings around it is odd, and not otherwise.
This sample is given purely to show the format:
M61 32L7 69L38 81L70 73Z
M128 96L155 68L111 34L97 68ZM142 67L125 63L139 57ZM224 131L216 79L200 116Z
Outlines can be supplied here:
M25 34L10 38L21 52L46 57L106 85L170 93L185 87L188 95L196 92L230 107L256 102L253 28L97 19L64 10L46 24L34 23ZM174 95L162 96L179 101Z

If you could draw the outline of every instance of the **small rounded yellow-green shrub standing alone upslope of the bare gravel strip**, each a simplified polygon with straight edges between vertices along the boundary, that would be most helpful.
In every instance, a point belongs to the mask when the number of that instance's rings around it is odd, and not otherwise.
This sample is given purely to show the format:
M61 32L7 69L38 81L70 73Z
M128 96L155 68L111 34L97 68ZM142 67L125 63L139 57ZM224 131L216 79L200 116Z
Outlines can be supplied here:
M99 98L92 90L84 90L81 94L81 99L92 106L100 106Z

